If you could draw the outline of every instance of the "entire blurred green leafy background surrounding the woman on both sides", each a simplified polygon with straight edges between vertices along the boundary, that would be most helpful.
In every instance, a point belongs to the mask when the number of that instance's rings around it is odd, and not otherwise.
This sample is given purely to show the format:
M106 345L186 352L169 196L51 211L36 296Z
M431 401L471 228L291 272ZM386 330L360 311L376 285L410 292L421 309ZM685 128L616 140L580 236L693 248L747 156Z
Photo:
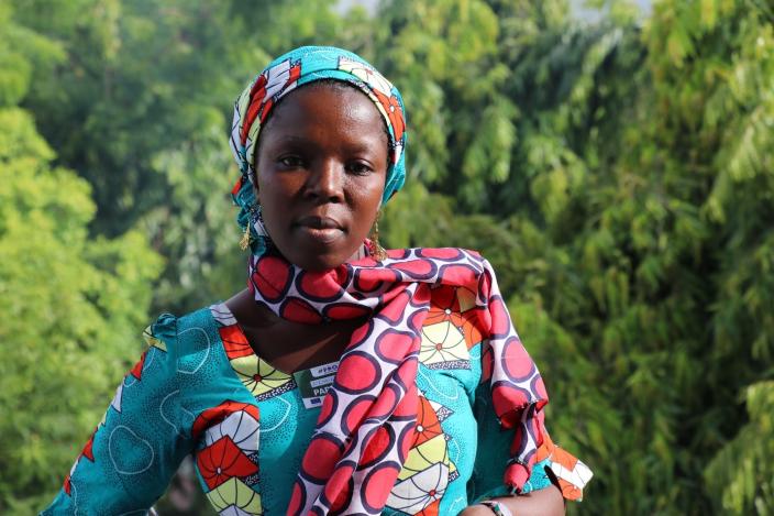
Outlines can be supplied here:
M770 0L0 0L1 514L158 312L244 285L232 102L300 44L401 89L385 243L494 264L596 473L571 514L774 514ZM161 514L211 514L189 475Z

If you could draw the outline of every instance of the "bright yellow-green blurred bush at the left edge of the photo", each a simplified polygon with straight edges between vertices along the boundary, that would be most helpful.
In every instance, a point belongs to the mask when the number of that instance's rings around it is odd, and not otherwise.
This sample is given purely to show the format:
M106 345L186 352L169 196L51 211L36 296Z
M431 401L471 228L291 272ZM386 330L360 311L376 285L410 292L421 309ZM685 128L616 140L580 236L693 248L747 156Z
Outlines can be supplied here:
M51 498L137 353L161 260L136 232L90 239L88 184L19 109L0 110L0 509Z

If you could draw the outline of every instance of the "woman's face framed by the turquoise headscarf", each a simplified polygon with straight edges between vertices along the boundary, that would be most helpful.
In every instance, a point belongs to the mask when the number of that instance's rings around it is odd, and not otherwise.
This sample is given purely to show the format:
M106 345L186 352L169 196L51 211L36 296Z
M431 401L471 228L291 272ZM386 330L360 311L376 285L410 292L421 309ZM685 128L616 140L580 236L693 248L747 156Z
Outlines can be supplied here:
M387 176L384 121L365 94L310 85L261 131L257 196L283 255L308 271L341 265L376 218Z

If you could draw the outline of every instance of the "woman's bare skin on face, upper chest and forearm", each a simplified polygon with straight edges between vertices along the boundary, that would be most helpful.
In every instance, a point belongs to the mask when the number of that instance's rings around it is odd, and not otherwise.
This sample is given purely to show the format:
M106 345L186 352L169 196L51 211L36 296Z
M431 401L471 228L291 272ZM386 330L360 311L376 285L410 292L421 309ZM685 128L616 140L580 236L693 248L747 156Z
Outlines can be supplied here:
M380 207L387 149L382 116L356 89L310 85L275 108L257 149L257 196L264 223L286 259L325 271L355 254ZM255 353L287 373L339 360L364 322L288 321L259 307L247 289L225 304ZM501 502L518 515L564 514L555 487ZM473 505L462 514L493 513Z

